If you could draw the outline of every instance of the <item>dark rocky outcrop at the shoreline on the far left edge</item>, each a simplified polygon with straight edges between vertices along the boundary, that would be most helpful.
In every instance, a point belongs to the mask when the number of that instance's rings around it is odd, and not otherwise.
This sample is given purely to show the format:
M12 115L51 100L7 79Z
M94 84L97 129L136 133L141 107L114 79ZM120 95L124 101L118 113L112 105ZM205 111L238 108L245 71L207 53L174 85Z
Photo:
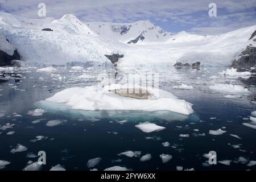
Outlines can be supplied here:
M17 50L14 51L12 56L0 50L0 67L15 66L16 62L13 60L20 60L20 55Z

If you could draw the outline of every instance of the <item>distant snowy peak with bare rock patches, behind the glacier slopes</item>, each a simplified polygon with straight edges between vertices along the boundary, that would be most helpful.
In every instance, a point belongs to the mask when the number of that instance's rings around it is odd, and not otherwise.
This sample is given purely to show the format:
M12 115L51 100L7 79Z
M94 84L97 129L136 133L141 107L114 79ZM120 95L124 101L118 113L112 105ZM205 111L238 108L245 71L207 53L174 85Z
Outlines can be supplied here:
M134 23L88 22L86 25L102 38L128 44L161 42L171 38L171 33L148 21Z

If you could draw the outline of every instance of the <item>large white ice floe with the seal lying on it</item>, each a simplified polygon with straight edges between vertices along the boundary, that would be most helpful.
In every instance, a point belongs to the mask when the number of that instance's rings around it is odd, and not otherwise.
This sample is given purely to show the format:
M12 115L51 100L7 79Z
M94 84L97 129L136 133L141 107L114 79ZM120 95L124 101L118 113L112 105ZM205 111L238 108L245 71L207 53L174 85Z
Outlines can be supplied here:
M81 110L169 110L185 115L193 113L192 104L179 100L170 92L161 89L142 88L142 90L147 90L147 93L143 95L147 99L131 98L130 94L127 94L127 97L121 96L109 91L126 90L127 88L130 87L119 84L104 88L101 85L86 86L85 88L75 87L58 92L46 100Z

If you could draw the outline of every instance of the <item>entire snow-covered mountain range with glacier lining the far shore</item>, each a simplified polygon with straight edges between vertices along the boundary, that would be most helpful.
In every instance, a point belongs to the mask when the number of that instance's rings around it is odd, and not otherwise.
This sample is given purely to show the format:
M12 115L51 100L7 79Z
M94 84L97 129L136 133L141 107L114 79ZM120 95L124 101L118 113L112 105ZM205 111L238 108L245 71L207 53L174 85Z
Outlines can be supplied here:
M72 14L60 19L27 19L0 12L0 35L9 40L21 60L40 64L106 65L112 63L105 55L119 53L123 55L119 66L196 61L227 66L247 46L256 47L255 38L249 40L255 30L256 25L214 36L185 31L171 35L146 21L82 23Z

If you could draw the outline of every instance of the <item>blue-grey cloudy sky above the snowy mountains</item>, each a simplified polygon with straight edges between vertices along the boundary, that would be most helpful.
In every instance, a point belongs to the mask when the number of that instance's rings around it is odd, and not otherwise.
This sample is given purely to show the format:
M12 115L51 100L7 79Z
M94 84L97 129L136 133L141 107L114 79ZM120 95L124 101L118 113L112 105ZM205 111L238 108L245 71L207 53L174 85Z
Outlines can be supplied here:
M173 33L214 35L256 24L256 0L0 0L0 11L40 18L39 3L54 18L72 13L82 22L148 20ZM216 16L208 14L210 3L216 4Z

